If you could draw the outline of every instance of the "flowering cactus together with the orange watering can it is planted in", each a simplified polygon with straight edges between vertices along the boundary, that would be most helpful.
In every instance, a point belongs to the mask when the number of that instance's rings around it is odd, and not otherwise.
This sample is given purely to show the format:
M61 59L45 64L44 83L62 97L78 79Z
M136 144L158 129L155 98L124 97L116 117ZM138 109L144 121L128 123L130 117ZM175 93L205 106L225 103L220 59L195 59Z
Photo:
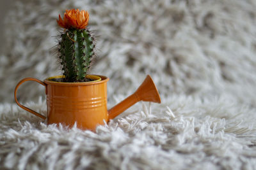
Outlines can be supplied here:
M97 125L107 123L138 101L161 103L154 82L147 76L134 94L108 110L109 78L88 74L95 57L94 38L86 29L88 20L89 13L83 10L66 10L63 19L59 15L57 23L64 29L58 43L63 75L52 76L44 81L24 78L15 87L16 103L24 110L47 119L48 124L77 124L81 129L94 130ZM17 100L17 89L25 81L36 81L45 86L47 116L23 106Z

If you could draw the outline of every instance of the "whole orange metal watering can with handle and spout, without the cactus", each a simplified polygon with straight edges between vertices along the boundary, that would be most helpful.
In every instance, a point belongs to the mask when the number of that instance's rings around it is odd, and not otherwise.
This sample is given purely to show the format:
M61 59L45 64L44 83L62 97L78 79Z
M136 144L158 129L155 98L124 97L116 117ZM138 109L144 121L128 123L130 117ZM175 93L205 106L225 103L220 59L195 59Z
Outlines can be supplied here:
M107 82L109 78L100 75L88 76L94 81L81 83L52 81L52 79L62 76L50 77L44 81L36 78L24 78L15 87L15 101L24 110L40 118L47 118L47 124L61 123L72 126L76 122L80 129L90 130L94 130L97 125L103 125L104 121L108 122L109 119L115 118L138 101L161 103L156 86L148 75L134 94L108 110ZM17 100L17 89L25 81L36 81L45 86L47 117L22 106Z

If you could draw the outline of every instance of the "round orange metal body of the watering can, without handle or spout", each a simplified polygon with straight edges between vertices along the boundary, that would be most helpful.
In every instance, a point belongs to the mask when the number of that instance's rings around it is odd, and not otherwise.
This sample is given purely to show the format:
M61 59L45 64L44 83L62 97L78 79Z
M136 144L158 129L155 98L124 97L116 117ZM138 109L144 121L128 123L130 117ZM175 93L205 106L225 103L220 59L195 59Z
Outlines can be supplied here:
M95 129L108 122L107 82L59 83L49 79L47 84L47 123L74 125L81 129Z

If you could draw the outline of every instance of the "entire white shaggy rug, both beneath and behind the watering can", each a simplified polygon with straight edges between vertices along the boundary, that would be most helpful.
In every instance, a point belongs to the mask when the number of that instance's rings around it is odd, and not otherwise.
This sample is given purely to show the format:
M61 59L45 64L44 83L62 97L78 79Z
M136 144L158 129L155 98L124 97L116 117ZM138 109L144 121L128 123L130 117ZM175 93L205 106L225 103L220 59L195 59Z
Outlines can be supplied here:
M61 74L58 13L90 13L109 108L147 74L162 104L138 103L96 132L45 125L13 104L24 77ZM256 1L26 0L6 17L0 169L256 169ZM33 90L31 90L33 89ZM38 97L42 96L42 98ZM45 113L43 87L19 101Z

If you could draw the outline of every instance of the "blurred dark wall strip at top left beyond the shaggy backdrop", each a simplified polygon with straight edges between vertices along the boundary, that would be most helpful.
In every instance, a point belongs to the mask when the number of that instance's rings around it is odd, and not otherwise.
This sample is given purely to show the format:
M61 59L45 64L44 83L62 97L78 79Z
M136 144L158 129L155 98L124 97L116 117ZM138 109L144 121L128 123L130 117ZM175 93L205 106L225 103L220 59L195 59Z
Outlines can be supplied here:
M4 17L8 10L10 10L14 0L0 0L0 39L4 38L3 26L4 26ZM2 53L3 42L0 41L0 53Z

